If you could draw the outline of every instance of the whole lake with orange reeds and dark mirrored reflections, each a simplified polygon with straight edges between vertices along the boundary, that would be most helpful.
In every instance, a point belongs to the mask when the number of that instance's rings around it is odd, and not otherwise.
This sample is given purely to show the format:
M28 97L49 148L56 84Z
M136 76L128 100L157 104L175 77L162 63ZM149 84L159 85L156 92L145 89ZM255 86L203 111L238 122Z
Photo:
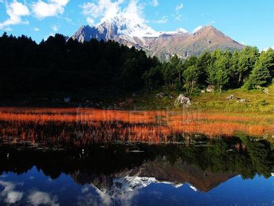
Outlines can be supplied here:
M0 205L274 205L274 117L0 108Z

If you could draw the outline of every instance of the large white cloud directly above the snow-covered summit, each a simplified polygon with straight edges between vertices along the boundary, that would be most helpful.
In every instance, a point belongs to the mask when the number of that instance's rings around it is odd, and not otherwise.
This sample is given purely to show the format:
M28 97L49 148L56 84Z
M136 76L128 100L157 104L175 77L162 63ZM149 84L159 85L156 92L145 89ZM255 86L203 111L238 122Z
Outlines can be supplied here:
M134 23L144 23L142 18L142 5L137 0L129 2L125 9L121 8L124 0L97 0L97 3L84 3L82 5L83 14L86 16L86 21L94 24L100 19L100 23L115 16L121 16Z

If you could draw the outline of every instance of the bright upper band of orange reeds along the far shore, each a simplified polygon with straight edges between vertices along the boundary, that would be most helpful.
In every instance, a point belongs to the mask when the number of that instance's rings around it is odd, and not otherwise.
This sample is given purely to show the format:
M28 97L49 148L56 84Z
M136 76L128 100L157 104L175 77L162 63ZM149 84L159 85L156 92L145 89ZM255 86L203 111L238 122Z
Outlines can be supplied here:
M245 117L239 115L225 115L205 113L201 111L114 111L86 108L0 108L2 120L29 121L121 121L121 122L155 122L156 119L171 121L194 120L225 120L231 122L267 122L265 117Z

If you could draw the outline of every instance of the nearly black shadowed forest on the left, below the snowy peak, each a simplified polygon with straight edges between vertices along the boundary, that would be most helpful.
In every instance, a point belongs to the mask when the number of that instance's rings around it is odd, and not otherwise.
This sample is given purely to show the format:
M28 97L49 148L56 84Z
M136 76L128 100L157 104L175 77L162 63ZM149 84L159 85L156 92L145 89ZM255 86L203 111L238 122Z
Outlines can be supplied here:
M0 91L78 92L142 89L142 73L159 62L114 41L78 43L60 34L40 44L26 36L0 38Z

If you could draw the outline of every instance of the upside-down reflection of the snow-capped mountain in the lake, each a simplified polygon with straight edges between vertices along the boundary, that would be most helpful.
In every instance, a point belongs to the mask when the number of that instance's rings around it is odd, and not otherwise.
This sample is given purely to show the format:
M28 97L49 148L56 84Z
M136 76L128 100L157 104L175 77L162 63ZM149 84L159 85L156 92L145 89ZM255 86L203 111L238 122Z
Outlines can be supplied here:
M145 161L131 170L125 169L114 174L86 174L77 172L71 174L75 182L85 185L90 183L98 192L103 192L111 198L130 196L151 183L165 183L173 187L190 185L192 190L209 192L221 183L236 176L231 172L210 172L201 170L180 160L171 164L165 158Z

